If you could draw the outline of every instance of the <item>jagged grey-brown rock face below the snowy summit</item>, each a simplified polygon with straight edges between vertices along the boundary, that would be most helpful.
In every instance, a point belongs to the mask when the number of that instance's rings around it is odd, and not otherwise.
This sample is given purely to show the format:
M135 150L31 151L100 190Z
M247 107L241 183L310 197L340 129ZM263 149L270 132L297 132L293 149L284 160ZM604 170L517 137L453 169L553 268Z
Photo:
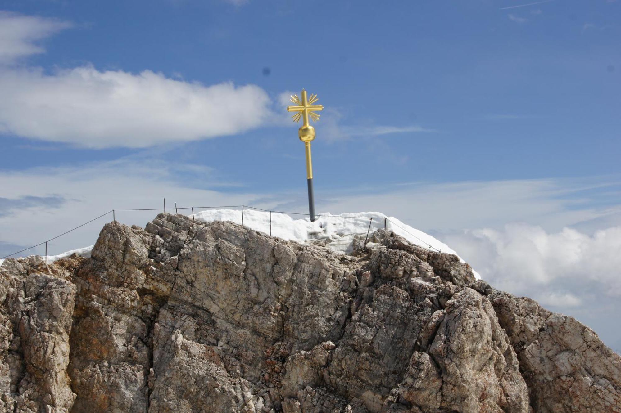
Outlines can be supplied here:
M377 231L353 255L237 224L110 223L0 267L13 412L621 412L587 327Z

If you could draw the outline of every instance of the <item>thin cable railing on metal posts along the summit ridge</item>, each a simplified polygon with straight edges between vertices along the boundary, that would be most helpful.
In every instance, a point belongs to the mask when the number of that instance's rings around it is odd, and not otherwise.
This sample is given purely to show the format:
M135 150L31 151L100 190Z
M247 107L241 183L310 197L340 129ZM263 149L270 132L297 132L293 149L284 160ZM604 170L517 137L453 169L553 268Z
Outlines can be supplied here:
M27 247L24 249L21 249L20 251L16 251L13 252L12 254L9 255L5 255L4 257L0 257L0 259L4 260L7 259L9 257L12 257L13 255L17 255L20 254L21 252L24 251L29 251L30 249L34 249L36 247L40 247L45 245L45 262L47 262L47 256L48 256L48 242L53 241L57 238L60 238L61 236L64 236L66 234L69 234L73 231L75 231L76 229L82 228L83 226L90 224L94 221L99 220L100 218L103 218L104 216L110 215L112 214L112 221L116 221L116 213L117 211L161 211L163 210L164 212L169 212L171 210L175 210L175 213L179 213L179 210L190 210L191 211L191 216L192 216L192 220L193 222L196 222L196 218L194 216L194 210L207 210L207 209L229 209L229 208L242 208L241 213L242 213L242 225L243 225L243 216L244 216L244 211L246 208L252 209L252 210L257 210L257 211L263 211L263 212L269 212L270 213L270 236L271 236L271 229L272 229L272 213L278 213L278 214L284 214L284 215L301 215L301 216L309 216L309 214L307 213L299 213L299 212L286 212L286 211L274 211L274 210L265 210L263 208L257 208L257 207L252 207L251 205L226 205L226 206L217 206L217 207L177 207L177 204L175 203L175 207L173 208L166 208L166 200L164 200L164 206L163 208L120 208L120 209L112 209L110 211L107 211L106 213L103 213L102 215L96 216L95 218L93 218L92 220L86 221L83 224L80 224L74 228L69 229L68 231L65 231L64 233L58 234L57 236L54 236L50 239L47 239L45 241L39 242L39 244L36 244L32 247ZM188 215L189 216L189 215ZM395 223L394 221L390 220L387 216L343 216L343 215L329 215L329 214L315 214L315 216L317 217L326 217L326 218L343 218L343 219L347 219L347 220L369 220L369 226L368 229L366 231L366 238L365 238L365 244L369 239L369 233L371 231L371 225L373 224L373 220L384 220L384 229L388 229L388 223L391 223L392 225L396 226L397 228L400 228L402 231L404 231L405 233L409 234L410 236L414 237L415 239L419 240L420 242L422 242L422 244L425 244L429 249L432 249L433 251L437 251L437 252L442 252L440 251L440 249L433 247L431 244L429 244L427 241L424 241L423 239L420 239L418 236L416 236L415 234L410 233L410 231L407 231L407 229L403 228L401 225Z

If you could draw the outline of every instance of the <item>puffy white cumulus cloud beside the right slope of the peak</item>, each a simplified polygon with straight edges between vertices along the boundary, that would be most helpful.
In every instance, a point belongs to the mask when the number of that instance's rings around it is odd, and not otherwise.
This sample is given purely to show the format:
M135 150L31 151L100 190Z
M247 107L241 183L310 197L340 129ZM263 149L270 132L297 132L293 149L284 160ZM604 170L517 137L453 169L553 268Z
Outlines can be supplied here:
M492 285L551 306L578 306L592 291L621 297L621 226L594 234L507 224L445 237Z

